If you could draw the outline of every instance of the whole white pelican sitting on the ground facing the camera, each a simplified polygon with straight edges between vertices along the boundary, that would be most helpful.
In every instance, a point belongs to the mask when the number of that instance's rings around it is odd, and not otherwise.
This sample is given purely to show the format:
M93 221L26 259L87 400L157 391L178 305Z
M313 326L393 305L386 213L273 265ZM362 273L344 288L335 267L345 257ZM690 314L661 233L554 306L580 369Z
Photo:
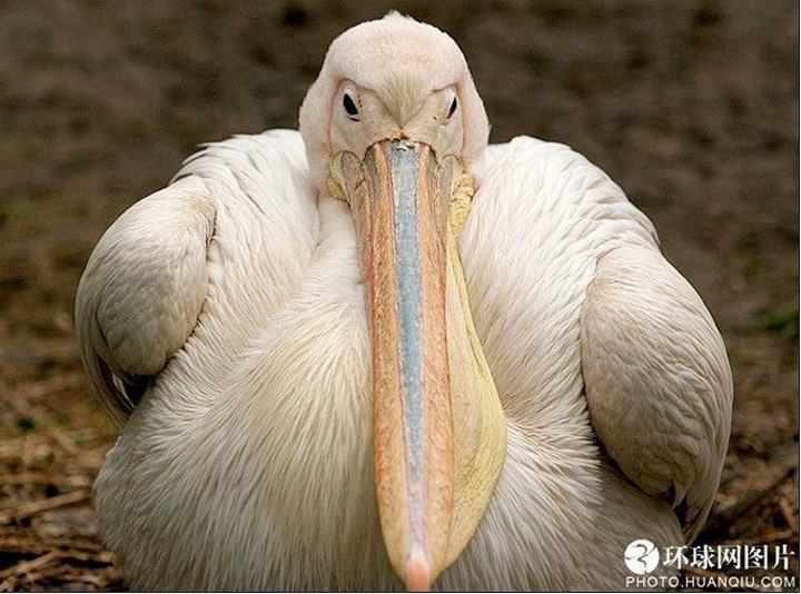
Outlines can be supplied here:
M564 145L488 146L456 42L397 13L299 131L122 214L76 314L135 590L620 590L719 485L725 348L649 219Z

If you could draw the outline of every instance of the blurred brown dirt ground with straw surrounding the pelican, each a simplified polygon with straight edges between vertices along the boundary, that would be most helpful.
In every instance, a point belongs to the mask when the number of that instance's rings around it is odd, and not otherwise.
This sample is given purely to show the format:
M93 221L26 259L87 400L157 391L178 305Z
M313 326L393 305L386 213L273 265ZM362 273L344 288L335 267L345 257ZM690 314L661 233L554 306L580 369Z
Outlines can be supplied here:
M329 41L389 8L447 30L493 140L584 152L656 224L725 338L735 404L701 542L798 552L799 13L789 1L0 2L0 591L125 587L91 483L76 286L197 143L296 127ZM798 556L789 570L798 576ZM798 588L798 582L795 582Z

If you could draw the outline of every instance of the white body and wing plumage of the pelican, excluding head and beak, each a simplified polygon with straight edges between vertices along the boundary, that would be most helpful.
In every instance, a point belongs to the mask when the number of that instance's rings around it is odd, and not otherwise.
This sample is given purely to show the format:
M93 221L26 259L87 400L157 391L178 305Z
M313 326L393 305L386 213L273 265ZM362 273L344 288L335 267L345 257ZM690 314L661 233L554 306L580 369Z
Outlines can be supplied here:
M136 590L402 586L376 505L354 219L305 149L288 130L208 146L115 222L81 280L83 360L127 419L97 518ZM681 545L706 518L725 349L651 222L584 157L520 137L472 172L459 251L507 445L436 586L624 587L631 541Z

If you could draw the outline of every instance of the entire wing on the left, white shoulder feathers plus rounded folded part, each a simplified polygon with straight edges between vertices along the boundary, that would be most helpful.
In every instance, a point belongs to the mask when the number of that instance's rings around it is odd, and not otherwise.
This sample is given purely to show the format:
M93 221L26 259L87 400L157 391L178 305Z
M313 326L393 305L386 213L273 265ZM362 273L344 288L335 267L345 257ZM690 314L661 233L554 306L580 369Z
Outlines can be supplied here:
M294 290L317 241L307 169L296 131L210 143L106 231L76 321L83 365L120 424L190 336L206 347L191 360L214 380ZM214 392L192 380L194 394Z

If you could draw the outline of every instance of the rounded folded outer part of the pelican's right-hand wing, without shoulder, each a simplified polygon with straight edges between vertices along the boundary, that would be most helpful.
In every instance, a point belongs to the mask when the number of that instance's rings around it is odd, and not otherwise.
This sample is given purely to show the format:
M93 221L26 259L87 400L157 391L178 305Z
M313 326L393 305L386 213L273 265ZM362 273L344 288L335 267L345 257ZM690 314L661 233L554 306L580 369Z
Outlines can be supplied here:
M729 442L732 378L701 298L656 249L597 260L581 324L590 416L606 452L649 494L703 526Z

